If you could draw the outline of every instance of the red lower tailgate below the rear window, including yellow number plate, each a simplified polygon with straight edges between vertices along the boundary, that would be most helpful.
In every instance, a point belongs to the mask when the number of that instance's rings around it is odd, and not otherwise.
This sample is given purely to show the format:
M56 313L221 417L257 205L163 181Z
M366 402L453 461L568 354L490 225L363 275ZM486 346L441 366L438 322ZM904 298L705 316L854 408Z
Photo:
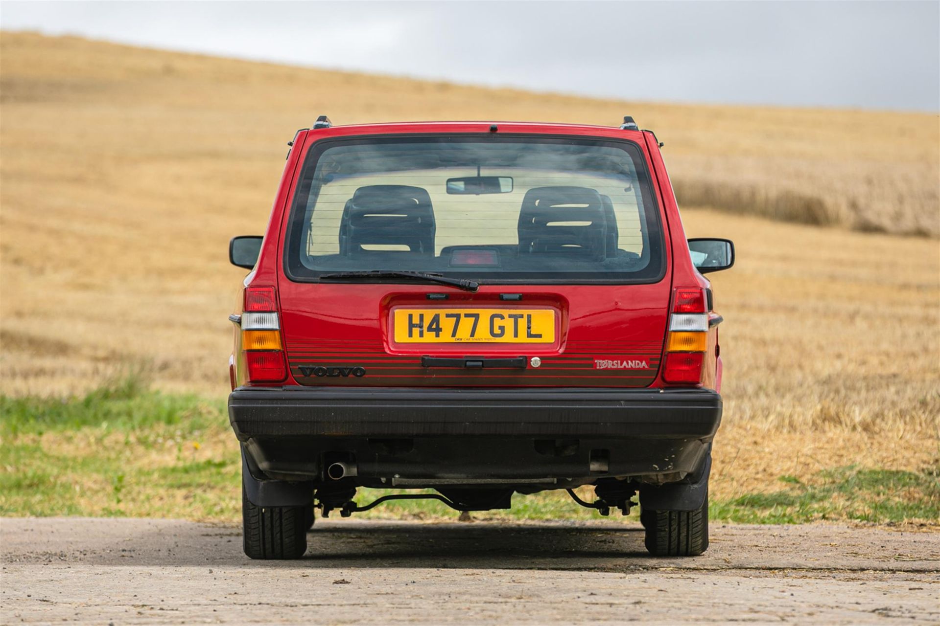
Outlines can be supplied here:
M280 300L301 385L637 388L659 369L669 283L467 293L282 279Z

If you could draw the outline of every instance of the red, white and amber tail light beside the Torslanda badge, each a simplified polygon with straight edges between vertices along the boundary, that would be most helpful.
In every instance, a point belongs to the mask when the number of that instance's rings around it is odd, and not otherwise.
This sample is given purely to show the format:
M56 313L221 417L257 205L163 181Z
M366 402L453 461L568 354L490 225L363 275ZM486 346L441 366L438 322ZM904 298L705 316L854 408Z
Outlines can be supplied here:
M705 290L676 289L666 338L663 379L667 383L698 385L708 349L708 311Z

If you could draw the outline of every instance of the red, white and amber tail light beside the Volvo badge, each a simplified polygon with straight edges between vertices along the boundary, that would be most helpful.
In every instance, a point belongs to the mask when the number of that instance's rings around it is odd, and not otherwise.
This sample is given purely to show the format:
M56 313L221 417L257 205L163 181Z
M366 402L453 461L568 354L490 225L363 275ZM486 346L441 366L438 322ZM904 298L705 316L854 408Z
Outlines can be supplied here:
M242 311L242 349L248 380L253 383L284 380L288 371L274 287L246 287Z

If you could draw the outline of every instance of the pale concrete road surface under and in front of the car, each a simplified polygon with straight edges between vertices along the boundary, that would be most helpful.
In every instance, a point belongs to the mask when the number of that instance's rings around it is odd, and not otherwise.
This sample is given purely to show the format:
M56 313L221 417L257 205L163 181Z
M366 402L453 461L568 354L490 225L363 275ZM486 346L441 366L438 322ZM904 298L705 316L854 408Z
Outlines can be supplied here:
M940 623L940 535L713 524L650 558L616 523L318 520L299 561L241 529L0 519L0 623ZM900 618L900 619L899 619Z

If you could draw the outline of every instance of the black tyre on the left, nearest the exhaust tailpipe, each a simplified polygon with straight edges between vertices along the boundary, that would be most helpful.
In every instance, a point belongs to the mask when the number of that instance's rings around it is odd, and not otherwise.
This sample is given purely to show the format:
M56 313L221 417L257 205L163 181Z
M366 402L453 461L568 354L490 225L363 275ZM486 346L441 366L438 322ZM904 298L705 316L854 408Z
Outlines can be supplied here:
M307 510L310 510L309 512ZM300 558L306 552L306 531L313 526L313 508L258 507L242 488L244 554L250 558Z

